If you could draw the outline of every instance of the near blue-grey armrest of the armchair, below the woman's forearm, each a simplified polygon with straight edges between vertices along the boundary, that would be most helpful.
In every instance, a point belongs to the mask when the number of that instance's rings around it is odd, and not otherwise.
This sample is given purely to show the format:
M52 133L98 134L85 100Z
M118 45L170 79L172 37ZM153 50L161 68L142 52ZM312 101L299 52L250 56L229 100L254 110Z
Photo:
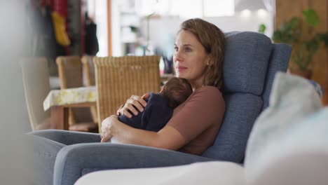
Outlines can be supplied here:
M210 160L213 159L130 144L73 144L57 155L54 184L74 184L83 174L99 170L166 167Z

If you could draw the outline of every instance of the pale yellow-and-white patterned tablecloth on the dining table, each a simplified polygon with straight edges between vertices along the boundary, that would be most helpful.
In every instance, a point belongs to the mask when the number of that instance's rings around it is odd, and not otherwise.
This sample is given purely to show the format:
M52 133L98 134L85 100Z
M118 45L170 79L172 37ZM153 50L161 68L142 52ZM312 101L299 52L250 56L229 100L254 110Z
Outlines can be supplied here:
M46 100L43 101L43 109L46 111L53 106L96 102L96 100L97 89L95 86L50 90Z

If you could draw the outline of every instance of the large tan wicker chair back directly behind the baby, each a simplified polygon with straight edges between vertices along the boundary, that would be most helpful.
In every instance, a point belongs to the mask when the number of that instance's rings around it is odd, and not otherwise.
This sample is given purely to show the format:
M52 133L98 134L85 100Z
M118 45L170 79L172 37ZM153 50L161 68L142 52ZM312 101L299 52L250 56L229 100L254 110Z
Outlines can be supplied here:
M94 58L99 128L131 95L160 90L159 60L159 56Z

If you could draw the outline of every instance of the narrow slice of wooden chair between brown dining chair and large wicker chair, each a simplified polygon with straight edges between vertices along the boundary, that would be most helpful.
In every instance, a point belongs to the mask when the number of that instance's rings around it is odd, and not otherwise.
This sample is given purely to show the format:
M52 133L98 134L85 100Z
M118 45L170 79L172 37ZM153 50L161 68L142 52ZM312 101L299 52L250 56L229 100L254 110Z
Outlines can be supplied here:
M81 57L83 64L83 85L95 86L95 65L93 64L94 56L84 55ZM90 107L93 122L97 123L97 107Z

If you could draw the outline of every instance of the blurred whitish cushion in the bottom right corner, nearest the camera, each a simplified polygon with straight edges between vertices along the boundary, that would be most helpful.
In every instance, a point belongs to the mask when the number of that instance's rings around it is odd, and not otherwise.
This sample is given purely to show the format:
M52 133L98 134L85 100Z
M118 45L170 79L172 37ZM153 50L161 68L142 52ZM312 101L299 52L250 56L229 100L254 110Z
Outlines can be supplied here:
M306 116L268 143L257 173L247 172L247 184L327 184L327 121L328 107Z

